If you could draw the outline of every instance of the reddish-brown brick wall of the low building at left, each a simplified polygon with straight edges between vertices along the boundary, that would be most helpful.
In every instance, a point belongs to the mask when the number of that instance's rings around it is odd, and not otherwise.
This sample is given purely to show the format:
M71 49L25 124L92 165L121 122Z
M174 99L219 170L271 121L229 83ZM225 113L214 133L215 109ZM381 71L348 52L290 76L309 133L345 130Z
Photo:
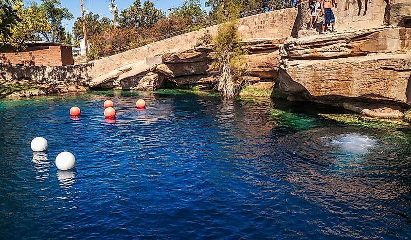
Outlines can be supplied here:
M28 47L18 53L4 49L0 60L3 66L67 66L74 63L71 46Z

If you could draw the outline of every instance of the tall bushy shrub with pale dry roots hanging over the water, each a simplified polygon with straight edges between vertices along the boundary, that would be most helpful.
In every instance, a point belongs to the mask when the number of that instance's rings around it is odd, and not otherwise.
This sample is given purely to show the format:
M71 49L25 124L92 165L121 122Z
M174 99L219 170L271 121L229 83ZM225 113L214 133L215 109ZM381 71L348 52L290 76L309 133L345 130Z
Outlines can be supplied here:
M237 29L237 15L240 6L236 0L226 1L224 7L220 6L219 15L225 17L227 22L218 27L217 34L213 38L214 56L210 66L212 74L218 79L218 91L225 97L232 98L237 95L242 76L246 73L246 50L242 48L241 37Z

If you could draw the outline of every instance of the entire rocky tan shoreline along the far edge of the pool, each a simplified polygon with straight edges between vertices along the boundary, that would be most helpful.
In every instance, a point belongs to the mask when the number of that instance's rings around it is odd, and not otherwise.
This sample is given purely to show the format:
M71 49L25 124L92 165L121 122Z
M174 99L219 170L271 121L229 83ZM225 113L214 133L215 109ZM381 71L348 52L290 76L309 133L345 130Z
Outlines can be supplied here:
M240 96L286 97L373 118L407 120L411 108L411 1L387 5L383 21L379 27L334 34L300 29L294 37L244 40L249 74ZM90 69L98 62L66 69L33 67L3 72L5 68L0 68L0 97L89 89L210 90L215 86L209 73L213 52L211 45L170 49L144 58L134 56L134 62L116 68L104 61L98 69L105 73L94 76ZM27 75L36 77L27 79Z

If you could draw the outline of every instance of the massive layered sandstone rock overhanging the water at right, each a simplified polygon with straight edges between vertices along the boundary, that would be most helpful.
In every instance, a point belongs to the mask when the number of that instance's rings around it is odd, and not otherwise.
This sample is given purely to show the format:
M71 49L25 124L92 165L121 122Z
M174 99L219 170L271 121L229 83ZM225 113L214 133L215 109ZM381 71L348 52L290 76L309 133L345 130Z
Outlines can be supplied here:
M406 27L290 39L280 46L284 59L279 89L292 95L289 99L303 97L367 116L402 118L402 108L411 104L410 49L411 29ZM385 102L373 106L360 98Z

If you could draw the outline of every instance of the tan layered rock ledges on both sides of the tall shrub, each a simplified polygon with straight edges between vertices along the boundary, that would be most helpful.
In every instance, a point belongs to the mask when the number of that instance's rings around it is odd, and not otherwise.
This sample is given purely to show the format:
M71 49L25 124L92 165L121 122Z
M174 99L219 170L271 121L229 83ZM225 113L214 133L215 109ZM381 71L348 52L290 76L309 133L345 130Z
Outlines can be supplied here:
M259 39L244 43L249 75L247 82L272 81L278 76L280 55L278 47L286 39ZM214 49L211 45L167 52L154 58L128 64L107 75L90 81L92 88L117 88L126 90L156 90L166 79L176 85L196 85L200 89L214 87L210 76ZM152 66L147 64L149 62ZM252 80L250 80L252 79Z

